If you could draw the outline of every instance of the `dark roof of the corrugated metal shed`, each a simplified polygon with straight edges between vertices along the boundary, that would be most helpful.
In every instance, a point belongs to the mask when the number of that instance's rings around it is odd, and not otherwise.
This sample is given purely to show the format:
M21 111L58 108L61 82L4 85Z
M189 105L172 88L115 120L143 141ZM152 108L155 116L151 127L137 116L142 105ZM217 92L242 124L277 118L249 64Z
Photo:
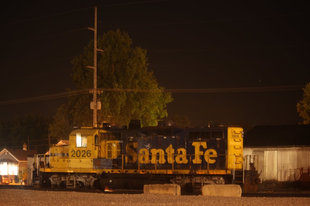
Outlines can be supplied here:
M244 135L244 147L310 146L310 125L255 126Z

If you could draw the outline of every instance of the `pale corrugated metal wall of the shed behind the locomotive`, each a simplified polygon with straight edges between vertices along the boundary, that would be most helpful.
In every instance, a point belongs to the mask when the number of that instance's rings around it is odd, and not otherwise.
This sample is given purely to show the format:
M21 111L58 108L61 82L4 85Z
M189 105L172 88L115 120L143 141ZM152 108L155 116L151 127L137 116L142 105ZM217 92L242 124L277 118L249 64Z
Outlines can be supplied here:
M243 148L243 155L259 156L263 181L295 181L310 167L310 147Z

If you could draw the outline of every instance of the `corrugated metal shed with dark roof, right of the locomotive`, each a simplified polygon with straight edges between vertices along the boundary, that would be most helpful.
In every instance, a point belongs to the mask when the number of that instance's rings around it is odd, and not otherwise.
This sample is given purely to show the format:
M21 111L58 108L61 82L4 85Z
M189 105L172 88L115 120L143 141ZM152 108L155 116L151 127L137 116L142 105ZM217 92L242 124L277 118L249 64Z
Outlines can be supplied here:
M255 126L244 135L247 154L259 157L263 181L310 183L310 125Z

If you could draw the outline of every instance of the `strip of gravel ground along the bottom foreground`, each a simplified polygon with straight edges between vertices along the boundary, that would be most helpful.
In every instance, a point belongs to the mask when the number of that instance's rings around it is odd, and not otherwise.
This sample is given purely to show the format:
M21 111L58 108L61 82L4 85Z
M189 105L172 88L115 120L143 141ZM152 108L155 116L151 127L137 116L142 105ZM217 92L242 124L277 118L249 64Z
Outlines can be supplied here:
M310 198L298 197L213 197L213 196L172 196L157 194L98 194L67 191L33 191L18 189L0 190L0 206L303 206L310 205Z

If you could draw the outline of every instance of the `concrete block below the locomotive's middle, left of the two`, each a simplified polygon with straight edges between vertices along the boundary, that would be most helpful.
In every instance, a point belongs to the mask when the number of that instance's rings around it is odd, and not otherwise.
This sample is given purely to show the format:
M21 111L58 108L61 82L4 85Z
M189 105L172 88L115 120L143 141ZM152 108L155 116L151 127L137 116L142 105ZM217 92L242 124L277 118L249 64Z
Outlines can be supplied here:
M176 184L164 184L164 185L144 185L143 193L155 193L166 195L181 195L181 187Z

